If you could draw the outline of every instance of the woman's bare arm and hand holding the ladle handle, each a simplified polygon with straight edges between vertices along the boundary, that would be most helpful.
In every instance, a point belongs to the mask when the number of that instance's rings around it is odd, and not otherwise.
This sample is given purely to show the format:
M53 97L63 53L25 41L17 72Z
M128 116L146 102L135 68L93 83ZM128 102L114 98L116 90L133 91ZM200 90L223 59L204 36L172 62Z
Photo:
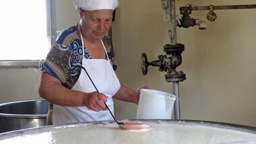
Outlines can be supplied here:
M61 81L49 73L42 73L38 89L40 97L61 106L87 106L91 110L106 110L107 96L98 92L84 93L67 89ZM104 102L102 102L104 101Z

